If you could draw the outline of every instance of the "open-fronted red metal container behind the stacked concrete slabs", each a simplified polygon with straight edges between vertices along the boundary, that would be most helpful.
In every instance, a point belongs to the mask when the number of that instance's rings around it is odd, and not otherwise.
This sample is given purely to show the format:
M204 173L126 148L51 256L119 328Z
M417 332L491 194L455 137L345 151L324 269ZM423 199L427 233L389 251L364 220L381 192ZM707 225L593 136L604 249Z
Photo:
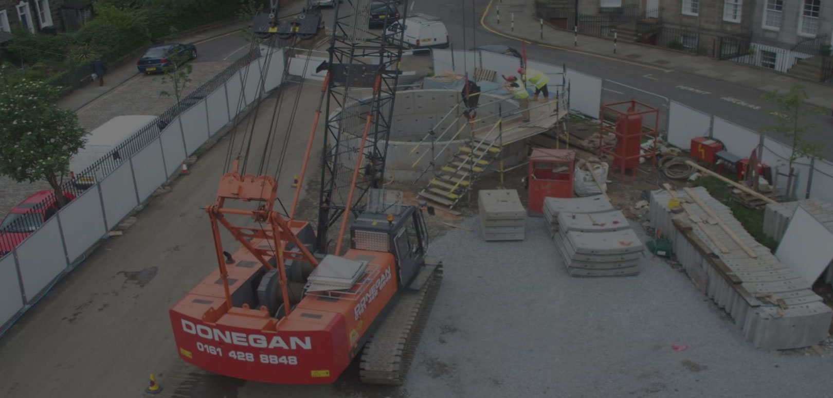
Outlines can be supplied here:
M573 196L573 169L576 151L534 148L529 157L529 195L526 209L530 216L543 216L545 197Z

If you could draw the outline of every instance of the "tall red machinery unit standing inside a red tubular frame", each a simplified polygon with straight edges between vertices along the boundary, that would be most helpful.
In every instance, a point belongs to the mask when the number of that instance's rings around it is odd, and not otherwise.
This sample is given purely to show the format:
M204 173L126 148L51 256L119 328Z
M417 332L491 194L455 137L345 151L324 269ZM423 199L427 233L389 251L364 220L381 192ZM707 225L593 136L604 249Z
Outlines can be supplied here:
M601 134L599 134L599 155L613 157L612 166L618 167L621 175L626 170L639 167L641 157L650 157L651 166L656 162L656 127L660 112L656 107L638 101L614 102L601 106ZM614 123L611 123L613 121ZM616 136L616 147L605 145L606 134ZM650 151L642 153L642 137L653 137Z

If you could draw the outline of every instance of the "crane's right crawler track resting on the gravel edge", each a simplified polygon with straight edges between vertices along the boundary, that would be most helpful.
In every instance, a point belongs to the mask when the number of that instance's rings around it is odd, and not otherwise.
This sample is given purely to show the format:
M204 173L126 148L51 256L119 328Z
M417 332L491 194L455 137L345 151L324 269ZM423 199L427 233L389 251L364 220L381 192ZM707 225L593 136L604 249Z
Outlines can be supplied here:
M402 385L442 281L442 263L426 261L427 280L419 290L404 288L399 301L364 346L359 374L362 382ZM420 276L413 284L418 284ZM413 285L412 284L412 285Z

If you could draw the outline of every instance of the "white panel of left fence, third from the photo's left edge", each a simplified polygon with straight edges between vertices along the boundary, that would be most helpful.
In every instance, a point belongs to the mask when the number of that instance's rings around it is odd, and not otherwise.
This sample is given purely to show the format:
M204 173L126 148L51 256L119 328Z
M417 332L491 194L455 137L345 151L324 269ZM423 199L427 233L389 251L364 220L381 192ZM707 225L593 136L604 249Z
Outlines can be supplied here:
M84 251L107 234L104 225L101 197L98 188L92 187L76 197L60 211L63 240L67 245L67 256L74 263Z

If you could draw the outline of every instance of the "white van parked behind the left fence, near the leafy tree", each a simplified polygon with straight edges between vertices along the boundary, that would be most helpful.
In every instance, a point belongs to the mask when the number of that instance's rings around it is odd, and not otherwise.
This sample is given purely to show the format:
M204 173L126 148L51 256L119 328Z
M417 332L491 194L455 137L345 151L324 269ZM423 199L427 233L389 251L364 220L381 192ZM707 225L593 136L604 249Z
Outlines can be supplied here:
M84 137L87 140L84 147L69 160L72 182L77 187L86 189L95 185L97 181L102 181L118 164L127 161L127 158L132 157L141 148L140 143L137 143L120 148L116 152L112 151L142 130L147 131L149 136L158 137L158 121L159 117L150 115L117 116L92 130ZM113 158L102 159L103 157Z

